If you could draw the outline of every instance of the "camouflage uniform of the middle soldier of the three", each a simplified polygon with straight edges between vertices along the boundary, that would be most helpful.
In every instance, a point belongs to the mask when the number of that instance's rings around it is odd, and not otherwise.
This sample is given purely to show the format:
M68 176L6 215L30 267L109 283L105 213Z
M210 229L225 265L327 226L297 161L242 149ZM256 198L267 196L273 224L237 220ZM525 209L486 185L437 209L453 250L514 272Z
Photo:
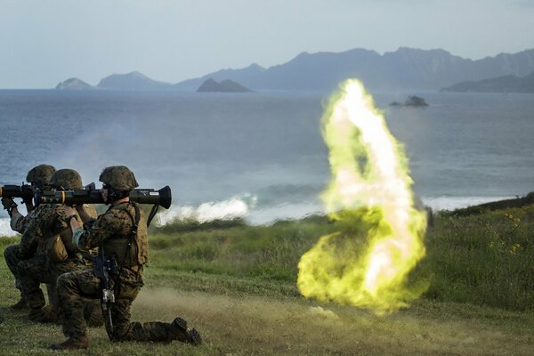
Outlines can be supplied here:
M41 310L44 307L44 295L40 284L46 283L52 286L49 289L49 293L52 292L49 298L53 311L56 312L58 277L69 271L91 268L91 263L88 263L72 245L72 231L70 231L63 205L43 204L37 206L34 212L20 240L18 248L20 262L17 264L17 274L31 310ZM93 206L87 206L87 212L96 216ZM47 256L44 244L48 239L57 239L58 235L69 256L65 261L53 263Z

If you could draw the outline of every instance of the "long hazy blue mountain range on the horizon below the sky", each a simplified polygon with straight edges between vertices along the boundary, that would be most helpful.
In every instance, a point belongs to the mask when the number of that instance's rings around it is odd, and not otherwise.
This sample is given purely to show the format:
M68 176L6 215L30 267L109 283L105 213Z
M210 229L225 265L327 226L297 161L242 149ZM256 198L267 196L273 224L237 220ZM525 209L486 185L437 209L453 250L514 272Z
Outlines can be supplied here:
M465 81L504 76L525 77L532 72L534 49L514 54L500 53L495 57L472 61L441 49L401 47L383 55L365 49L343 53L301 53L293 60L269 69L257 64L244 69L222 69L174 85L152 80L139 72L115 74L103 78L96 88L194 92L212 78L218 82L231 80L255 91L329 91L346 78L358 77L370 89L437 90ZM69 80L73 79L76 78ZM75 85L63 86L73 89Z

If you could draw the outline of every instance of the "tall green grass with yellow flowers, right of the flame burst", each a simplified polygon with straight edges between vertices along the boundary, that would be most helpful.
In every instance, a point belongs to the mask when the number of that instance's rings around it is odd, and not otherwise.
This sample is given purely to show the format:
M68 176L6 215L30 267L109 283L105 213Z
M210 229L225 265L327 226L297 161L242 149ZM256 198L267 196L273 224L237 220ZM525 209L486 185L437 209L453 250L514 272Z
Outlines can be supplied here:
M534 206L467 216L439 215L420 275L426 298L514 311L534 308Z

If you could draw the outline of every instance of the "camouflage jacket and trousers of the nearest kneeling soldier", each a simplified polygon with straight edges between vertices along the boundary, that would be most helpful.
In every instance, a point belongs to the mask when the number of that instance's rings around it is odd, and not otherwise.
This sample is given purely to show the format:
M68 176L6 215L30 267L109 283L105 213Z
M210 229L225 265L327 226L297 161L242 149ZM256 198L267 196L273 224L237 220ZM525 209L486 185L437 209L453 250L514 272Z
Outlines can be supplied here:
M141 219L137 234L132 238L135 206L140 210ZM111 308L113 334L109 338L112 341L170 341L172 335L169 323L130 322L130 306L143 285L142 266L147 263L149 254L146 220L139 205L122 203L112 206L91 228L77 229L74 235L78 246L101 246L106 255L117 257L118 278L111 280L116 299ZM130 239L133 239L131 244ZM66 273L58 280L58 295L63 333L73 338L85 336L81 298L100 298L101 280L94 276L93 271Z

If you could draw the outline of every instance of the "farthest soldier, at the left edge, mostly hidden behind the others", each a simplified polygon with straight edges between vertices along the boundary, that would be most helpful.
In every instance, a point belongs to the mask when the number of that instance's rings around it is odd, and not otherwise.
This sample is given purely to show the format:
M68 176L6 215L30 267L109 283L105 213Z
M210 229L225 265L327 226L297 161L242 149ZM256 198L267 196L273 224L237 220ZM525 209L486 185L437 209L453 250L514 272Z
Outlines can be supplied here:
M50 189L50 178L52 178L52 174L54 173L55 168L53 166L35 166L29 170L26 182L31 184L31 188L34 192L36 189L48 190ZM26 216L20 214L17 204L12 198L2 198L2 205L11 217L12 230L20 233L23 233L26 230L28 222L35 214L35 209L33 209L31 201L25 201L24 203L26 203L28 209L28 214ZM11 306L12 309L24 309L28 307L28 301L26 300L26 296L22 293L22 286L20 285L20 279L17 273L17 264L20 262L19 248L20 246L17 244L5 247L4 249L5 263L7 263L9 270L12 271L12 274L15 277L15 287L20 290L20 300Z

